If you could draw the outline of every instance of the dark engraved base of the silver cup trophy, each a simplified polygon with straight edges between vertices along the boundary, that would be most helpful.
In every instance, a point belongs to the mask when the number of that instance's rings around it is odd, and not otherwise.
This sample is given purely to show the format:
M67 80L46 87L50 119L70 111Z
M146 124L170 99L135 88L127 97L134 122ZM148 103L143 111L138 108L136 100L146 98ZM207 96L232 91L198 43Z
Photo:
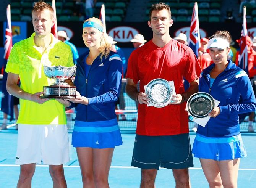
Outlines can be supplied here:
M76 98L76 87L75 86L61 86L51 85L44 86L43 95L40 98Z

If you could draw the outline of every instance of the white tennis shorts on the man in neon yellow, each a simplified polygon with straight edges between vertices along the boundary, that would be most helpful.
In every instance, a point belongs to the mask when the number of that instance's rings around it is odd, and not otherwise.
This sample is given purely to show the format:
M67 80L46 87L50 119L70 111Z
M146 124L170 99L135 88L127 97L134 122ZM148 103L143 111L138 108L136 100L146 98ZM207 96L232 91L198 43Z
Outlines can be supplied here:
M60 165L69 161L66 125L18 124L16 164Z

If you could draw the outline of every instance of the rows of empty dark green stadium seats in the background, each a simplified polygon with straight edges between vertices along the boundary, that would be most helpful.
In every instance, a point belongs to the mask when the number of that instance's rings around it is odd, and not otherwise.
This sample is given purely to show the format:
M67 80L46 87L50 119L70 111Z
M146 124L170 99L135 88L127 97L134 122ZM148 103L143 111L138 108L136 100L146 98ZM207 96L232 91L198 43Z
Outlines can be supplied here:
M34 0L10 0L11 1L11 12L13 16L21 14L21 16L30 16L31 8L33 6ZM143 0L141 0L143 1ZM45 0L47 3L52 3L51 0ZM145 3L141 3L144 7L144 13L141 14L143 20L147 20L147 16L149 14L149 9L153 3L158 3L158 0L145 0ZM222 7L222 0L162 0L160 2L167 3L172 11L172 16L175 21L181 22L190 22L190 18L192 15L194 3L198 2L198 14L199 20L202 22L211 21L216 22L220 21L222 18L220 8ZM85 1L83 1L85 4ZM128 6L130 0L98 0L94 6L94 16L99 17L100 9L102 4L105 5L105 15L106 21L123 21L125 19L127 9L134 8L133 6ZM74 0L56 0L56 14L58 19L68 20L70 21L79 21L80 18L72 17L74 15ZM136 7L138 8L138 7ZM255 20L256 17L256 7L248 7L247 12L249 16L252 17L252 21ZM85 16L85 12L82 13ZM131 14L131 12L129 12ZM210 17L214 16L210 19ZM215 18L217 17L217 18ZM13 17L15 20L18 20L16 17ZM26 18L26 17L25 17ZM127 17L128 18L128 17ZM126 18L126 19L127 19ZM21 17L19 18L19 20ZM24 18L23 18L24 19Z

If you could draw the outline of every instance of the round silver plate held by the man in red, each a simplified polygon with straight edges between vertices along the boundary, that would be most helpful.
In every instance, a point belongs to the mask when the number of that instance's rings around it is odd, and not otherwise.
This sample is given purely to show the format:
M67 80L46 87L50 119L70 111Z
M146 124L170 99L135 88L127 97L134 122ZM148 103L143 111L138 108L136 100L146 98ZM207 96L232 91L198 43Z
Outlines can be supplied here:
M161 108L168 105L173 95L173 88L167 80L157 78L147 84L145 93L152 106Z

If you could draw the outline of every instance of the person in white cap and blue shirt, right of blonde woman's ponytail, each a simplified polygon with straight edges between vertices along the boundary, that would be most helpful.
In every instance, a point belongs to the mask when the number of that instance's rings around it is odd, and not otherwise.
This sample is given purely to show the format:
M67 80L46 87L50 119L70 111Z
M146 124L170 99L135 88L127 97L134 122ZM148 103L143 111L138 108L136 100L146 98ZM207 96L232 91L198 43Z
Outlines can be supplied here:
M123 51L121 50L121 48L119 48L117 45L115 45L117 43L117 41L114 41L113 37L111 36L106 36L107 37L107 42L109 42L112 46L111 46L111 51L117 53L120 58L122 59L122 63L123 63L123 74L122 74L122 78L124 78L124 72L126 72L127 69L127 63L126 63L126 59L125 59L125 55L123 54ZM121 90L119 93L119 97L118 100L115 103L115 109L118 109L117 105L119 104L119 108L121 110L125 109L125 98L123 96L123 93L125 92L125 84L121 83ZM125 114L121 114L121 118L122 120L126 120ZM119 115L117 115L117 121L119 121Z

